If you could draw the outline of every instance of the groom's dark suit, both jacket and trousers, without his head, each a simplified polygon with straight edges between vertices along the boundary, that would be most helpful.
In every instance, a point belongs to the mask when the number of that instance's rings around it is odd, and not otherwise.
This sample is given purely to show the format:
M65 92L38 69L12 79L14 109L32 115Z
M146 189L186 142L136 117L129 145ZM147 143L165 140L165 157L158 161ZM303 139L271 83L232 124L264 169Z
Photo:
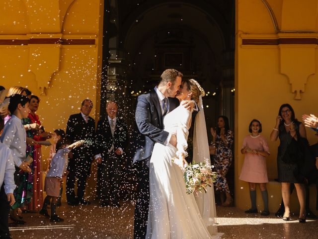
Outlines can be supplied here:
M169 112L179 106L179 100L169 98ZM155 142L164 143L168 132L163 130L159 98L155 90L138 97L136 123L141 134L134 156L138 171L138 195L135 207L134 239L145 239L149 209L149 162Z

